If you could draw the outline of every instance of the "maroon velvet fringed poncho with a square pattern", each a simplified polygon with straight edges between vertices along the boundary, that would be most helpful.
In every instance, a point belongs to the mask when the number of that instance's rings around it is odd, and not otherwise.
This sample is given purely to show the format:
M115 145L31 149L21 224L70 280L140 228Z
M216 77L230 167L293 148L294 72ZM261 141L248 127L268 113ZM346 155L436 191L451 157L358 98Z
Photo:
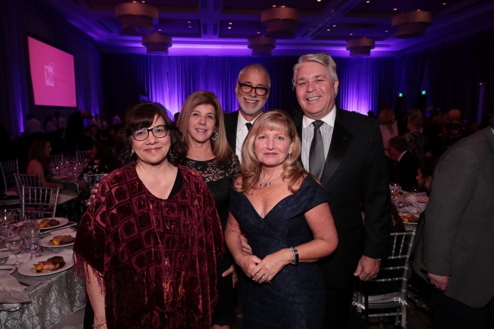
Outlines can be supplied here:
M76 269L103 275L108 328L211 328L216 256L223 233L202 177L183 166L180 192L167 200L142 184L135 164L104 177L81 220Z

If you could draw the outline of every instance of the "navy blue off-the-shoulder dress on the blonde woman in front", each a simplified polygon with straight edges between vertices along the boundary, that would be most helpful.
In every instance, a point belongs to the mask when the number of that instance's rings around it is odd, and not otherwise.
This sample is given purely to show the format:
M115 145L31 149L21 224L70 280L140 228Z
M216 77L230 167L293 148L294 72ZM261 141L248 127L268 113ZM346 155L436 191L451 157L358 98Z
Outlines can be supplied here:
M321 186L307 176L297 193L282 199L261 218L242 193L232 192L230 211L237 218L252 253L266 255L313 239L304 213L327 202ZM286 265L270 284L257 284L244 273L244 328L317 329L324 317L325 289L317 263Z

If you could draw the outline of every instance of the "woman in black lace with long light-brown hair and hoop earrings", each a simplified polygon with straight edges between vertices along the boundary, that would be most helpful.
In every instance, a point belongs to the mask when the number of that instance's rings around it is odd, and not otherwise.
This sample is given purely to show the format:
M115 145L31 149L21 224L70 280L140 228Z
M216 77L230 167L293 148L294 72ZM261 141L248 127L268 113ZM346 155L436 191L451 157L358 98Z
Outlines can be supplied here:
M206 181L225 230L230 190L240 174L240 164L228 145L220 101L211 92L192 93L185 100L177 126L188 146L183 165L199 172ZM237 273L228 252L218 261L217 280L219 298L213 329L230 328L235 317Z

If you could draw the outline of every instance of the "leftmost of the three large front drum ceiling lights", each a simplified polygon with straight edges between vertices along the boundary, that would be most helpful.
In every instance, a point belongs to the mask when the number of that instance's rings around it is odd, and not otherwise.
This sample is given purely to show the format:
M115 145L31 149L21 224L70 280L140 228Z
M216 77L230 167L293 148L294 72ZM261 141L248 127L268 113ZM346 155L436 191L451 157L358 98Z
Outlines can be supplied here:
M115 6L115 12L122 20L124 32L133 35L150 33L158 21L158 9L150 4L123 2Z

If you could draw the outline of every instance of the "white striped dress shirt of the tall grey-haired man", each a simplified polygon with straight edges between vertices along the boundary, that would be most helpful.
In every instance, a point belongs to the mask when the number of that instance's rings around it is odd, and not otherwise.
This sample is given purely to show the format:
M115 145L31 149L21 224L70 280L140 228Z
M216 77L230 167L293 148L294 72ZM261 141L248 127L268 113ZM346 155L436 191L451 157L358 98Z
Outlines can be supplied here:
M328 156L329 146L331 145L331 138L333 137L333 128L335 126L336 119L336 106L333 110L329 112L325 117L321 119L324 124L319 128L321 134L323 135L323 146L324 146L324 160ZM310 144L312 143L312 138L314 137L314 126L312 122L314 119L308 118L304 115L302 119L302 163L304 164L305 170L309 171L309 152Z

